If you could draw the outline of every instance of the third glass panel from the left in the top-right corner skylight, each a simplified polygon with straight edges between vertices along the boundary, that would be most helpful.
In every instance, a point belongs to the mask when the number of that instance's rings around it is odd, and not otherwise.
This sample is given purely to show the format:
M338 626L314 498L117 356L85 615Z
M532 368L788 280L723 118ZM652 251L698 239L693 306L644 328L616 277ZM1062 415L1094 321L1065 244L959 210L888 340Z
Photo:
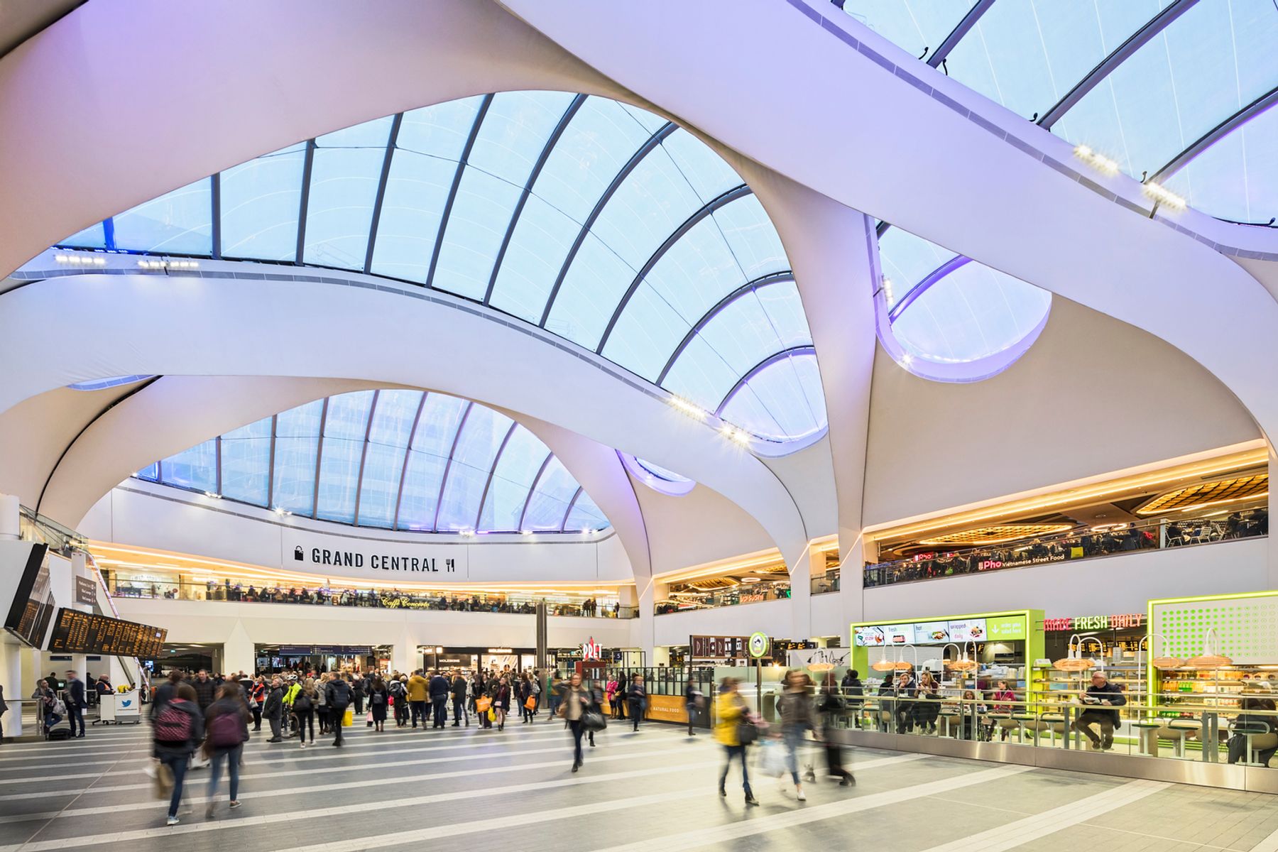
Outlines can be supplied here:
M1154 174L1195 139L1278 86L1278 8L1201 0L1123 61L1053 128Z

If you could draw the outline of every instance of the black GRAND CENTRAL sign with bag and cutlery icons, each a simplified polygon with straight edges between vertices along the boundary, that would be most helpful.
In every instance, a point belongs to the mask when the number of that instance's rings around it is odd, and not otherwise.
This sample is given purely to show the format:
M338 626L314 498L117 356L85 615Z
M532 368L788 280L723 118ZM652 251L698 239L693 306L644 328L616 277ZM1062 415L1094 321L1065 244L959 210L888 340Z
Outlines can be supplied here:
M281 542L284 570L405 580L465 580L469 575L464 544L377 542L300 530L286 533Z

